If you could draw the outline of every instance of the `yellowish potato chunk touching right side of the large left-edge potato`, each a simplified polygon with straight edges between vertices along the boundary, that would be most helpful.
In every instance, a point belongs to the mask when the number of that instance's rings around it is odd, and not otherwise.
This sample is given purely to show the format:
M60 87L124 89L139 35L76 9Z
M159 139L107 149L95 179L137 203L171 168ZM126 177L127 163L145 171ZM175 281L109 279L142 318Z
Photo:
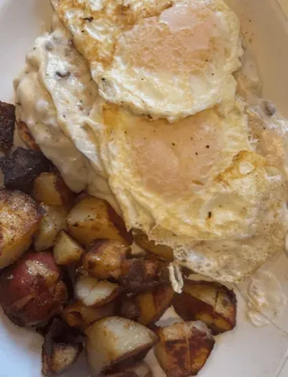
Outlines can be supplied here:
M68 210L66 207L47 206L42 203L40 210L43 217L34 236L34 247L37 252L53 247L60 230L67 229Z

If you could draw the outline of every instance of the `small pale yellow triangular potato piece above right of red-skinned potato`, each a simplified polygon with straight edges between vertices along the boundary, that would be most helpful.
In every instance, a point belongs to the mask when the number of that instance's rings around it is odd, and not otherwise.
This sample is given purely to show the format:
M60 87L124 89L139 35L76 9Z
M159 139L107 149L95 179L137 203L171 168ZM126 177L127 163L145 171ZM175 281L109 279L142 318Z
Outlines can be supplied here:
M71 265L80 262L84 250L67 234L60 230L53 248L55 261L58 265Z

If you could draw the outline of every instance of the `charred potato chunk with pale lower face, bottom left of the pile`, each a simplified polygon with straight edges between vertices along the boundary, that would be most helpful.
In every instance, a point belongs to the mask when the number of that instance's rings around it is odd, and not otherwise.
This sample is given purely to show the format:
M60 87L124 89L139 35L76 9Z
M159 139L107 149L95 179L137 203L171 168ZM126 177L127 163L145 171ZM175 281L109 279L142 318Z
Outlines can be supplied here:
M54 319L42 347L44 376L58 376L70 369L83 350L82 342L73 335L67 324Z

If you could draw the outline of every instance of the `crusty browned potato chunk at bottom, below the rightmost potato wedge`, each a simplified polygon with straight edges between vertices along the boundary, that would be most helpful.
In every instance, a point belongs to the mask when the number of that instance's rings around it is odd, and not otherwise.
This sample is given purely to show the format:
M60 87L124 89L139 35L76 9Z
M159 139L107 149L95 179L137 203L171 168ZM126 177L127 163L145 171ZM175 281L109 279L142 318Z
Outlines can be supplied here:
M215 340L202 322L181 322L156 331L155 354L168 377L196 376L210 356Z

